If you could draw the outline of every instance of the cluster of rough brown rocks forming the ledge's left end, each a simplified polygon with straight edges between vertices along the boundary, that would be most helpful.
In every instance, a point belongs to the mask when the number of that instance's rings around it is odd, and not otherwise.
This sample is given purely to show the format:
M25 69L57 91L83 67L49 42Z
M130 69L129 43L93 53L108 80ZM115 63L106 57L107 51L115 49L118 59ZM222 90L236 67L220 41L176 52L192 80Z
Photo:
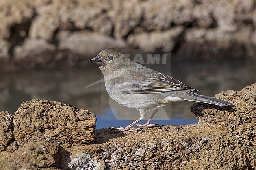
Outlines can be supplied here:
M0 112L0 169L57 169L60 150L95 138L96 116L61 102L33 99ZM57 168L55 168L57 167Z

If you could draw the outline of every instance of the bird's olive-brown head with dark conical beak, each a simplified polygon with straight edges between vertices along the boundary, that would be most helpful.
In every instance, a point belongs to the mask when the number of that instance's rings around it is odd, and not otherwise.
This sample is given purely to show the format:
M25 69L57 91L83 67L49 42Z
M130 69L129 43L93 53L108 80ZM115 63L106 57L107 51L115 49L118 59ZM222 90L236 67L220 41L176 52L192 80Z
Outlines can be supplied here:
M113 71L123 68L126 64L132 62L123 51L119 49L108 48L87 62L98 64L102 73L112 73Z

